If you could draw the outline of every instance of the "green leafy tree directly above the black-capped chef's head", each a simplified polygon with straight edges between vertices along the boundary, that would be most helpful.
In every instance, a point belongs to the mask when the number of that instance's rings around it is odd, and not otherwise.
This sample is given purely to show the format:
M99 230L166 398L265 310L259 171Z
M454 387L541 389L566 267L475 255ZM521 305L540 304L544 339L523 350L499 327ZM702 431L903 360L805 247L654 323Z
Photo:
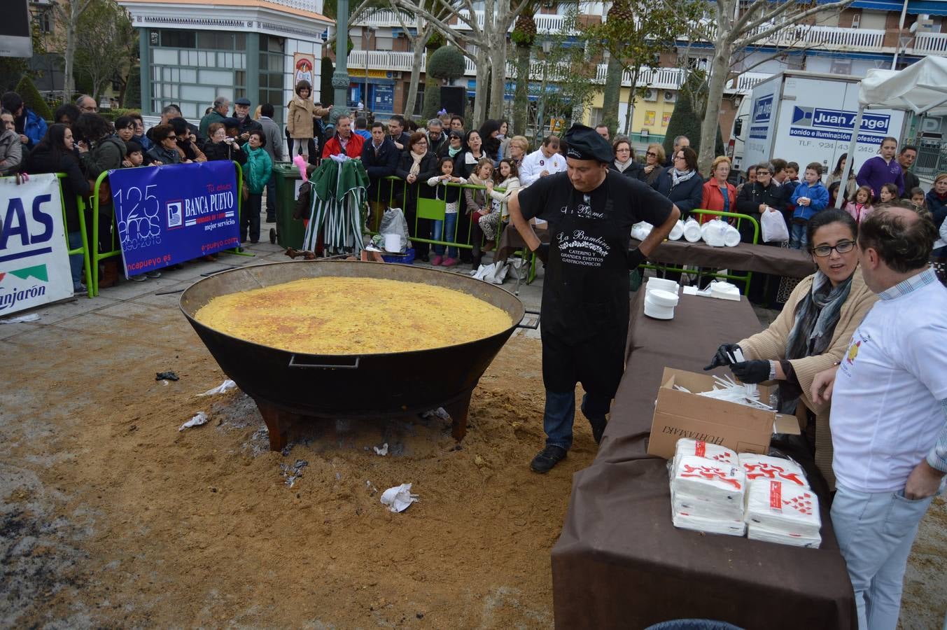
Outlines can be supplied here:
M656 67L660 53L670 49L679 37L688 35L689 25L700 19L705 7L705 0L616 0L605 22L588 29L586 36L596 51L608 53L602 123L608 125L613 135L618 132L618 105L625 73L632 78L624 130L627 134L634 99L648 89L647 85L637 84L641 71Z

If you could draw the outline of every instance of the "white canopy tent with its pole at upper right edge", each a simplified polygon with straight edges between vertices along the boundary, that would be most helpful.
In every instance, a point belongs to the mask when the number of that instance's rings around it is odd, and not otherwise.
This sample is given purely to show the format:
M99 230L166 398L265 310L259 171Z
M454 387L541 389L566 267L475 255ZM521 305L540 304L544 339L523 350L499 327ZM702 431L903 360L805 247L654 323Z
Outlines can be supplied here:
M862 115L866 109L900 109L918 116L947 116L947 59L925 57L903 70L868 70L858 84L858 115L849 142L849 155L858 147ZM853 160L846 160L842 181L849 181ZM844 187L843 187L844 189ZM842 207L844 195L838 196Z

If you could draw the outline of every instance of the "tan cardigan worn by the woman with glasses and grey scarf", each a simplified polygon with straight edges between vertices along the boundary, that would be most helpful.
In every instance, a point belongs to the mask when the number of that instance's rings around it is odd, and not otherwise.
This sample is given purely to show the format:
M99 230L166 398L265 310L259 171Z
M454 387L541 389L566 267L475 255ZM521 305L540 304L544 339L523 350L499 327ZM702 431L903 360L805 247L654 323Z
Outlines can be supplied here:
M813 278L807 276L802 279L795 287L793 294L786 300L786 305L782 309L776 320L770 324L762 333L754 334L748 339L739 342L743 351L743 356L747 360L766 359L778 361L786 356L786 341L789 333L793 330L795 323L795 308L807 293L812 291ZM790 361L795 369L795 376L802 387L802 395L799 396L799 402L802 405L796 407L796 416L799 418L799 425L803 429L806 426L805 407L808 407L815 414L815 465L819 472L829 482L829 488L835 489L835 476L831 470L831 430L829 426L829 405L822 405L813 402L810 387L813 385L813 378L817 373L824 369L831 368L836 361L841 361L842 356L849 349L851 335L855 329L862 323L862 319L867 315L868 310L875 303L878 297L871 293L865 285L865 279L862 278L862 270L855 269L855 275L851 279L851 290L849 298L845 300L839 313L838 323L835 325L835 332L832 333L829 350L825 354L816 356L807 356L801 359Z

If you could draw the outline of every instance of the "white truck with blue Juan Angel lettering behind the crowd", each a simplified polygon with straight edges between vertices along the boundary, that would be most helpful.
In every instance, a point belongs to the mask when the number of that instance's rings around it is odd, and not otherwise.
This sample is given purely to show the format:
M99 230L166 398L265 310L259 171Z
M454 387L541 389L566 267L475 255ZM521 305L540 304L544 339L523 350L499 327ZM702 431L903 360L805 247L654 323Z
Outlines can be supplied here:
M732 142L734 167L745 171L774 157L798 162L800 170L819 162L824 181L842 153L849 152L858 114L858 81L849 75L801 71L780 72L760 81L734 119L734 136L742 140ZM855 168L878 154L884 136L894 136L901 144L904 122L899 110L865 110Z

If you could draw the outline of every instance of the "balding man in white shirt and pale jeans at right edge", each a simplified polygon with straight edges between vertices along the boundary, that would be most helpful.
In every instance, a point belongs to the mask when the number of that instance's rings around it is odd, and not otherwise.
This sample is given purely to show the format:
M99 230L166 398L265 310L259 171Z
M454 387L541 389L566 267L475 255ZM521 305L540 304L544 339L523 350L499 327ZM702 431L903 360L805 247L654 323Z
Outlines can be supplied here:
M907 556L947 472L947 289L928 264L937 236L898 205L859 226L862 274L881 299L840 365L813 381L813 399L831 397L831 521L861 630L897 627Z

